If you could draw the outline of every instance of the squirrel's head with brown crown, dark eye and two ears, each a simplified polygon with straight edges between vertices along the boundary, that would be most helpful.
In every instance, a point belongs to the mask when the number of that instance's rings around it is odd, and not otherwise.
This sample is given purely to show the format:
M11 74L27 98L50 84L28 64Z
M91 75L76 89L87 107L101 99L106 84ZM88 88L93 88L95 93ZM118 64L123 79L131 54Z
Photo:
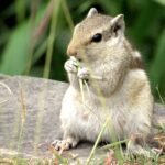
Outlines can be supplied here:
M67 54L88 61L108 55L111 50L119 50L124 38L124 26L123 14L111 18L91 8L87 18L75 26Z

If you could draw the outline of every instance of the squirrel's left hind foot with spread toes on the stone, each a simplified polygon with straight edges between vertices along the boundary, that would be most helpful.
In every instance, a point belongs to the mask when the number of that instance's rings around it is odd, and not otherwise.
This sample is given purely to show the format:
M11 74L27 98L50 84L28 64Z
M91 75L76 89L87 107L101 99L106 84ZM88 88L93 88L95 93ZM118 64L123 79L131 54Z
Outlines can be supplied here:
M67 151L77 145L78 141L76 139L66 139L66 140L55 140L52 145L57 151Z

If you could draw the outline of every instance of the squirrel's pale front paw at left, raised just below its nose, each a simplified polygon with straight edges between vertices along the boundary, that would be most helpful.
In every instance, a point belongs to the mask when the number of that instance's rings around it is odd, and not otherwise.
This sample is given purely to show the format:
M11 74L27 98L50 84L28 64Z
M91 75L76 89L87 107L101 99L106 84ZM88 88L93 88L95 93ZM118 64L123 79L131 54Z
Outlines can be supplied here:
M75 59L70 58L65 62L64 68L66 69L66 72L75 74L78 70L78 64Z

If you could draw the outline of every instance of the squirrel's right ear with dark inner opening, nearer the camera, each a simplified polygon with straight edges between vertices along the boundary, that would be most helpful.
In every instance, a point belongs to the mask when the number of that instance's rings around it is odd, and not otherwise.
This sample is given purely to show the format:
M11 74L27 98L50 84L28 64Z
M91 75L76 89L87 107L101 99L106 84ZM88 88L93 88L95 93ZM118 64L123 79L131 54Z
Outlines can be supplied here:
M111 30L112 33L116 34L116 36L120 35L121 33L124 33L124 29L125 29L125 23L124 23L123 14L119 14L111 20Z

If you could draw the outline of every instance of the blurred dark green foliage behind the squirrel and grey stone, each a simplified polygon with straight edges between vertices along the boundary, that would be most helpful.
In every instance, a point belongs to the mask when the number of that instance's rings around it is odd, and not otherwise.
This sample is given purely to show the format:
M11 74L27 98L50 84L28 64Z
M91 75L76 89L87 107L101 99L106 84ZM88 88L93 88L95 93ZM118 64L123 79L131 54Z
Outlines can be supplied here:
M124 14L127 36L143 54L154 92L158 86L165 96L165 0L8 0L0 6L0 73L66 80L74 24L91 7Z

